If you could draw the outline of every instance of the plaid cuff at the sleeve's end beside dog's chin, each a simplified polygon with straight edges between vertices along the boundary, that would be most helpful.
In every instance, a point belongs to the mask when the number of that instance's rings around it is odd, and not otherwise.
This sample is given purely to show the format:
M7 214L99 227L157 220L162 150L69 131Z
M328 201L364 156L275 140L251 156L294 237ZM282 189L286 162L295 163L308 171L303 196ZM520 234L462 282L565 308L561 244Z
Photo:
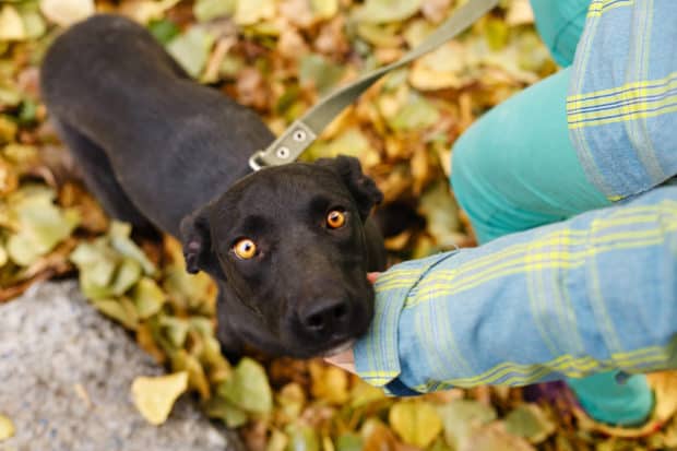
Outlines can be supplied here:
M411 396L419 392L404 384L397 335L400 317L407 298L432 266L458 251L412 260L391 268L375 285L375 316L367 334L354 346L355 369L367 383L382 388L387 394Z

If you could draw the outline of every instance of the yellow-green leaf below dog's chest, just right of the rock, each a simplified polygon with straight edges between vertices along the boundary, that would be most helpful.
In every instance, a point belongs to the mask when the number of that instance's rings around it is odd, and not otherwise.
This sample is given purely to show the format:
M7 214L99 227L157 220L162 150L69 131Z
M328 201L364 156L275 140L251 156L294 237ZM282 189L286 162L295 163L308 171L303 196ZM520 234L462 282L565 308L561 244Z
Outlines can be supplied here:
M233 377L223 382L218 393L244 411L268 414L273 407L273 395L263 367L245 357L233 371Z

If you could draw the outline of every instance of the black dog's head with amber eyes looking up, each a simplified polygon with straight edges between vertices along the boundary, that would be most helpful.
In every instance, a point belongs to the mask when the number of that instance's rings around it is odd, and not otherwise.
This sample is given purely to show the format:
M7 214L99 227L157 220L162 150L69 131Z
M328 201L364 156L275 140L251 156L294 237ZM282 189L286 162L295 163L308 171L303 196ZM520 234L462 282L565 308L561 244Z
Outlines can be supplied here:
M372 319L365 221L381 199L356 158L262 169L182 221L188 271L209 272L245 307L229 322L249 344L328 354Z

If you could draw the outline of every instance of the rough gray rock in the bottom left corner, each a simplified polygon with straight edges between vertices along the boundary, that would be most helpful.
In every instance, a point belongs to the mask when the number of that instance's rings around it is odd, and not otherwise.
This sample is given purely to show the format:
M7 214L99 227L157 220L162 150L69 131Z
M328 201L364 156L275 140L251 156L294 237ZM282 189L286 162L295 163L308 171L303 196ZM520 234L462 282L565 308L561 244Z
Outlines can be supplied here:
M94 310L74 282L46 283L0 305L0 413L16 435L0 451L239 450L194 402L179 400L161 427L131 402L136 376L162 368Z

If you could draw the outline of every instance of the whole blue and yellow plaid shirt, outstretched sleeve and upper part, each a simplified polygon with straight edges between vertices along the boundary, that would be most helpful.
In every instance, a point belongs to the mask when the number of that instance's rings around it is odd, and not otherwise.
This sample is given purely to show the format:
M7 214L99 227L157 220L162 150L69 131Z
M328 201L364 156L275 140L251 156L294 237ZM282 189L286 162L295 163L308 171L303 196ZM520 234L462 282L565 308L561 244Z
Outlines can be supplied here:
M567 112L586 175L623 202L376 285L361 378L399 394L677 367L677 2L594 0Z

